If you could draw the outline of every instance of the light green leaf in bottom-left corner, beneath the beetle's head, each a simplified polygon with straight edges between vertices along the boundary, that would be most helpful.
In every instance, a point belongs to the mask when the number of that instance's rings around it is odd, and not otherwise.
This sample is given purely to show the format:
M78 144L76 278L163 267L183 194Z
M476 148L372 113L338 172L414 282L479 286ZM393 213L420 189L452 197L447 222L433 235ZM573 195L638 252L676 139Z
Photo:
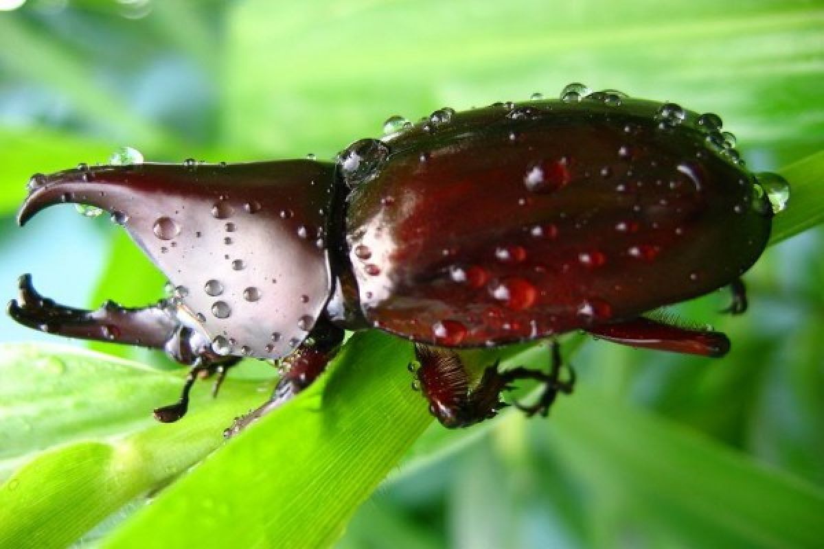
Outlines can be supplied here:
M26 462L0 486L0 547L76 541L204 458L238 409L260 400L255 384L227 381L217 401L202 386L189 415L161 425L150 411L176 400L178 375L88 351L26 345L0 347L0 375L2 463ZM95 440L82 440L88 438Z

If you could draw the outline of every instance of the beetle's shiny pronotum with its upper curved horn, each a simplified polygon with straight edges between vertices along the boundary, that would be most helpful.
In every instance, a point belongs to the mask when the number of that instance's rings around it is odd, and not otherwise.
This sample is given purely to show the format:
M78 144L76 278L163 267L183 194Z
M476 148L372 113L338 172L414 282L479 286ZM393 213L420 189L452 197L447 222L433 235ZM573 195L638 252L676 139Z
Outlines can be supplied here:
M180 288L199 331L244 355L293 351L328 300L331 163L81 165L35 175L29 188L21 225L62 202L110 212Z

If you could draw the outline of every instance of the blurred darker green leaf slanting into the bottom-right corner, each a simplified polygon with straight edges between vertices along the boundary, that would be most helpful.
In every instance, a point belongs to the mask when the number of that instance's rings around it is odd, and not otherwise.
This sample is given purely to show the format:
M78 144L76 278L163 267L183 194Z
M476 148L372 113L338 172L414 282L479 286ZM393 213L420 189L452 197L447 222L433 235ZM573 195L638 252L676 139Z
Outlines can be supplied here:
M820 547L824 539L824 492L671 421L586 386L552 419L553 449L596 494L643 496L645 520L677 522L703 547Z

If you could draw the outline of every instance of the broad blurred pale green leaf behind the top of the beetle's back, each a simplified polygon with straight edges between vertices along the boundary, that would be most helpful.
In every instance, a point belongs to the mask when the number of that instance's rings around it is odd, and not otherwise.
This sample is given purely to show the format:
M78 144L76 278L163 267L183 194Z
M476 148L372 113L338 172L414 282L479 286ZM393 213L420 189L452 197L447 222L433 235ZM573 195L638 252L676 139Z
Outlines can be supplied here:
M775 167L822 148L822 20L803 0L243 2L224 120L238 147L327 157L392 114L583 81L718 113L745 157Z

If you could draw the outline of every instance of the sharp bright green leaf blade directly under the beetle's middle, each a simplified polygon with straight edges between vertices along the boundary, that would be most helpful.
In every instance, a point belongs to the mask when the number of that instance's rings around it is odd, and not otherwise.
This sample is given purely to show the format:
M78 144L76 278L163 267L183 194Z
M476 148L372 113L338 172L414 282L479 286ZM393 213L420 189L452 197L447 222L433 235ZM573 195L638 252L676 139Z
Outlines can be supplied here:
M385 333L356 333L328 375L170 486L107 547L334 542L432 421L410 390L411 358Z

